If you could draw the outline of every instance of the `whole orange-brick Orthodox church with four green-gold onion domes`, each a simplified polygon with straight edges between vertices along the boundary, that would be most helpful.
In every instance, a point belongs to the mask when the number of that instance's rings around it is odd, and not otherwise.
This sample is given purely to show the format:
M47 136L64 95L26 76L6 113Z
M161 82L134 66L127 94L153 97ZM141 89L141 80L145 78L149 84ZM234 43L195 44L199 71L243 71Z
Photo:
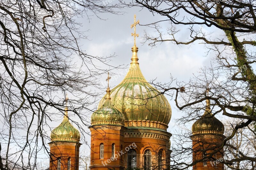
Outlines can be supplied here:
M144 78L135 39L129 71L112 90L108 88L92 113L91 170L164 170L171 166L171 133L167 132L172 110L165 96ZM66 107L67 108L67 107ZM218 144L224 140L224 126L206 101L205 112L192 126L193 169L222 170L223 157ZM50 170L78 170L80 133L69 122L67 109L61 124L52 130Z

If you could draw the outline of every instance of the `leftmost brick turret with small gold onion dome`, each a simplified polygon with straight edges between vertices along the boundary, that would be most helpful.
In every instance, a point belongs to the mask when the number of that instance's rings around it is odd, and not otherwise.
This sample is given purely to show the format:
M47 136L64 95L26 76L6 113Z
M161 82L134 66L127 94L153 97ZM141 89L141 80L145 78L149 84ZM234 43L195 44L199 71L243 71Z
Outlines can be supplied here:
M80 133L69 122L67 110L66 106L63 121L51 133L50 170L79 170Z

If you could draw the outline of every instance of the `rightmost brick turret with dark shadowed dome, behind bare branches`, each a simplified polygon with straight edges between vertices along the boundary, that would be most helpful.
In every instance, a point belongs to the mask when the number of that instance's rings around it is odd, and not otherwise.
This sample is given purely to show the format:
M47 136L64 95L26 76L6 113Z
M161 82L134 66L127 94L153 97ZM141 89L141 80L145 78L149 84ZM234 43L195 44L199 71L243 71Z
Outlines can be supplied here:
M204 115L192 126L192 148L195 170L223 170L224 125L212 115L210 100L206 100ZM220 151L218 151L220 150Z

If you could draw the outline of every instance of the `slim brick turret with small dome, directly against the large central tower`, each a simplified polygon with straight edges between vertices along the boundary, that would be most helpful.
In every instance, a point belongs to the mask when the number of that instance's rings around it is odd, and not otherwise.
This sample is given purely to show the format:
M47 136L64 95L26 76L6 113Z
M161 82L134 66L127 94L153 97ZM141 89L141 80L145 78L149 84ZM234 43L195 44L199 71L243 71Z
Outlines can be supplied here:
M106 92L104 104L92 114L91 170L124 169L124 114L111 103L109 86Z

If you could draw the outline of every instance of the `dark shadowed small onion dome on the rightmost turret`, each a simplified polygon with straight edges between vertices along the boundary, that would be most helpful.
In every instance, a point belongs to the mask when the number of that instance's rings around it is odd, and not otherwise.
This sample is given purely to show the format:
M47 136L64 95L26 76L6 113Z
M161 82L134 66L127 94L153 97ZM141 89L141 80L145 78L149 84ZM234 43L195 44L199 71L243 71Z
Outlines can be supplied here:
M204 115L192 126L192 134L220 134L224 133L224 125L216 117L212 116L210 100L206 100Z

